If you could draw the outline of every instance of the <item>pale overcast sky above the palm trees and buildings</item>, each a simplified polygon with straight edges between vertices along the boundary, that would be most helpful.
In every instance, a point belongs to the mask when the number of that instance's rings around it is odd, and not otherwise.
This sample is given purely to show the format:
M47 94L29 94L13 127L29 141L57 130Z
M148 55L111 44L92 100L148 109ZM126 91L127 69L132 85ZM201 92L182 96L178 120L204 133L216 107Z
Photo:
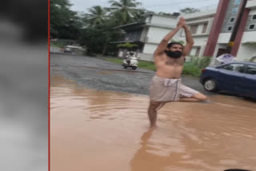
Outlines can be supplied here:
M79 12L87 12L87 9L92 6L110 6L109 0L70 0L73 6L71 10ZM146 10L154 12L174 13L186 7L211 9L213 6L218 6L219 0L137 0L142 2L142 7Z

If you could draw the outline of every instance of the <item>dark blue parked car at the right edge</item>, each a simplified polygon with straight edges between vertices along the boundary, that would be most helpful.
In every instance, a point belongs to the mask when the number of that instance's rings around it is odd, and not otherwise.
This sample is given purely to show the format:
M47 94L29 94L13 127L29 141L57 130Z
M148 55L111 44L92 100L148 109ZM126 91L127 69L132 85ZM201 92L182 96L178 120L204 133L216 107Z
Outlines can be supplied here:
M231 62L202 70L200 82L207 91L223 90L256 98L256 63Z

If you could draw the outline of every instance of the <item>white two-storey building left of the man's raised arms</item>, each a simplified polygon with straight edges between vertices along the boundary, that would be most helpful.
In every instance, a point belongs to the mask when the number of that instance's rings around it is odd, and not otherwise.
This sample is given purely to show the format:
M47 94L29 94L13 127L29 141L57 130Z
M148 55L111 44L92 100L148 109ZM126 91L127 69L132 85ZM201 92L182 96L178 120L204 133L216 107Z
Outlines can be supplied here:
M125 40L115 43L131 42L138 45L138 54L142 60L153 61L154 50L156 50L162 38L166 36L177 25L178 17L159 14L146 14L145 22L134 22L119 26L126 31ZM174 40L178 35L174 37ZM122 50L119 51L122 57Z

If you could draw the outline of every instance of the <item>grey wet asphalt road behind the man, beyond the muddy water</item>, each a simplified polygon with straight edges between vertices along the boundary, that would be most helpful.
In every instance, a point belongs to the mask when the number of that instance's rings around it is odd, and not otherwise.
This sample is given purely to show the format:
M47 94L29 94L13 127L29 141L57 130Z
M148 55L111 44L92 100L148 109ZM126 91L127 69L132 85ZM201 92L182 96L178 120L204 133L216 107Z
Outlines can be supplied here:
M62 75L75 80L84 88L148 94L154 71L138 68L123 69L120 64L107 62L102 58L90 58L74 54L51 53L50 74ZM198 78L182 76L182 83L206 95Z

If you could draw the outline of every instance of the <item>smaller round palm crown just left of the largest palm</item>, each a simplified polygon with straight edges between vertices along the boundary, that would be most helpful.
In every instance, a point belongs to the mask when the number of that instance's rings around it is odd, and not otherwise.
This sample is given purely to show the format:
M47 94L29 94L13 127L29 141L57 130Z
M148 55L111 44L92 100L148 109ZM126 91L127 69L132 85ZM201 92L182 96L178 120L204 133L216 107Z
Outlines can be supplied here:
M86 14L86 20L90 22L90 25L96 26L103 24L106 19L107 11L102 6L93 6L89 9L90 14Z

